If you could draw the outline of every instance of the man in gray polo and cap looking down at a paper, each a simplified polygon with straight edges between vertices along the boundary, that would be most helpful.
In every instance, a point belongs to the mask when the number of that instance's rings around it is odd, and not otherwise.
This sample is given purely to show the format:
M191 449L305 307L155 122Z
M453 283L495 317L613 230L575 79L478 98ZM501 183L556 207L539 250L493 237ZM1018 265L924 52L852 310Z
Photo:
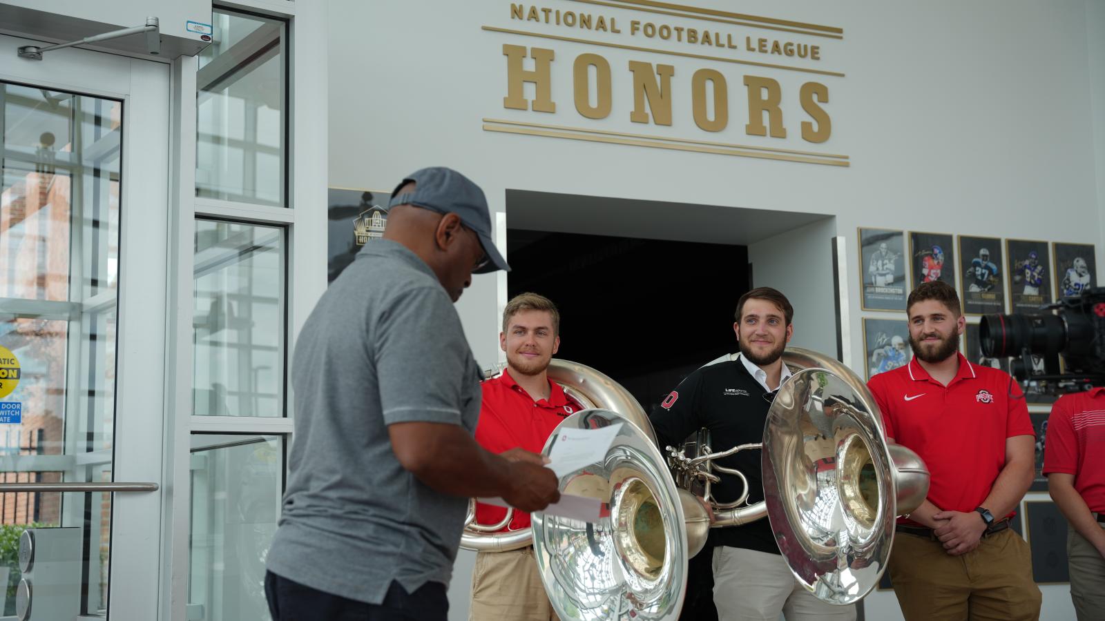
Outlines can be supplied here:
M509 270L483 191L448 168L392 193L382 240L319 299L292 365L295 438L265 593L274 621L445 620L467 498L559 498L541 457L472 434L480 369L452 303Z

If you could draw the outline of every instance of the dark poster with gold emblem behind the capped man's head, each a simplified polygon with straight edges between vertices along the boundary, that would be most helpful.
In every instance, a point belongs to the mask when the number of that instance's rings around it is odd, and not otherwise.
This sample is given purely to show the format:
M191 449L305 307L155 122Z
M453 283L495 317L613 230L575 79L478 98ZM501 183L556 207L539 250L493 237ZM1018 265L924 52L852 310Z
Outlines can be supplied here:
M383 236L390 190L328 188L326 282L333 283L371 240Z

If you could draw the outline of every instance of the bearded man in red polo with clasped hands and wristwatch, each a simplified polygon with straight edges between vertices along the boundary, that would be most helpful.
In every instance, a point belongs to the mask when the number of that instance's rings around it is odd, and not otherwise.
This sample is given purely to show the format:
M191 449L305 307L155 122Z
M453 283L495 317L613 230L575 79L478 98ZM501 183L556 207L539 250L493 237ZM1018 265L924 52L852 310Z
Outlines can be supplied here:
M944 282L906 303L914 358L867 386L886 440L928 465L928 497L898 519L890 572L906 621L1040 615L1028 544L1009 517L1032 483L1035 446L1020 386L959 354L966 322Z

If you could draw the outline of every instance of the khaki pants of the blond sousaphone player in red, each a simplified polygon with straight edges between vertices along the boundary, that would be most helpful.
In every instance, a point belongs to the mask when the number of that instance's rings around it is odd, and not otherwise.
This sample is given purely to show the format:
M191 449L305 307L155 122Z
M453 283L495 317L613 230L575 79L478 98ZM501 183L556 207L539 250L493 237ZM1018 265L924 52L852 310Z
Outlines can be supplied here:
M558 621L537 572L534 548L478 552L469 621Z

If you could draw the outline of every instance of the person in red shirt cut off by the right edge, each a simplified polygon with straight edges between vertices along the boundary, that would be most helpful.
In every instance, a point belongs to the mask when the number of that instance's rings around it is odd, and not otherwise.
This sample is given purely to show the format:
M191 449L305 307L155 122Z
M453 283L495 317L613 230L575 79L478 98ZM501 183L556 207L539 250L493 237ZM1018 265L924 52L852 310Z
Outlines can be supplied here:
M1071 523L1066 560L1078 621L1105 611L1105 388L1064 394L1051 408L1043 473Z

